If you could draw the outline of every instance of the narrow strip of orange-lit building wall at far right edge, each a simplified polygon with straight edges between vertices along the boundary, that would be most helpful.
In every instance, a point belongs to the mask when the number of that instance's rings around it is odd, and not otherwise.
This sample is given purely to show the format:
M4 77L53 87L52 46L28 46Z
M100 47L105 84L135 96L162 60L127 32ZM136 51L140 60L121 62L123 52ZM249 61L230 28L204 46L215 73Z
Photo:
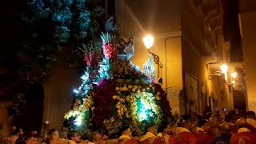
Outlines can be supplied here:
M256 111L256 12L251 11L240 14L240 28L242 29L242 51L245 63L246 86L247 86L247 107Z

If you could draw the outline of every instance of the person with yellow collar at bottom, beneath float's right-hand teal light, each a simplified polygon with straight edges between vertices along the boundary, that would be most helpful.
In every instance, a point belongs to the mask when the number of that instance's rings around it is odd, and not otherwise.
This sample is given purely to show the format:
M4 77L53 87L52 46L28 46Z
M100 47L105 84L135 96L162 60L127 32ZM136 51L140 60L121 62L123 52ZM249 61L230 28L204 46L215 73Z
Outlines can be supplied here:
M164 144L165 142L157 136L158 129L153 123L146 124L146 134L140 139L141 144Z

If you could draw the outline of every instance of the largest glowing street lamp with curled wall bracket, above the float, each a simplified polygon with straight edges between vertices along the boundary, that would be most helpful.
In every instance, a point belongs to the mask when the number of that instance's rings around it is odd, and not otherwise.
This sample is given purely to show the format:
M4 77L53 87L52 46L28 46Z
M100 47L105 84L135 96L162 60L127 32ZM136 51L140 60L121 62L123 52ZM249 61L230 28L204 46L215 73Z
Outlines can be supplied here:
M147 34L143 38L143 42L144 42L144 46L146 46L146 49L153 56L154 62L158 65L158 78L160 78L160 68L162 68L162 63L160 62L159 56L150 51L150 49L153 47L153 44L154 44L154 37L151 34Z

